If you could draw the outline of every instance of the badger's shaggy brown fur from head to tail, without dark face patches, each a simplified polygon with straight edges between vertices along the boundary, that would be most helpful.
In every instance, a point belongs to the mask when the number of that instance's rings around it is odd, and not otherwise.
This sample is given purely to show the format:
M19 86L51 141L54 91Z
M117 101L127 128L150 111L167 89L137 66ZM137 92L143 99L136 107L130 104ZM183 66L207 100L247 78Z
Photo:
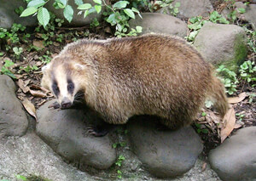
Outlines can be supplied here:
M85 103L109 123L154 115L177 128L191 123L206 99L224 116L224 86L213 74L212 65L187 42L148 34L71 43L44 69L42 85L51 89L53 80L58 82L61 104L64 82L71 79L75 90L68 99L73 102L82 90Z

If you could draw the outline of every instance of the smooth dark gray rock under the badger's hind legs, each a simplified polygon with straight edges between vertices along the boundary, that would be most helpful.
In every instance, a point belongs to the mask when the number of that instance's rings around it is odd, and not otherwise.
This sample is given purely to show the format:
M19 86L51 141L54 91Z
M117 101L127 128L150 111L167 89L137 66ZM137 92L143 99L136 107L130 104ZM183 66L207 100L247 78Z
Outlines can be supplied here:
M194 167L202 151L201 139L192 127L157 131L153 120L131 121L131 147L148 171L160 178L173 178Z

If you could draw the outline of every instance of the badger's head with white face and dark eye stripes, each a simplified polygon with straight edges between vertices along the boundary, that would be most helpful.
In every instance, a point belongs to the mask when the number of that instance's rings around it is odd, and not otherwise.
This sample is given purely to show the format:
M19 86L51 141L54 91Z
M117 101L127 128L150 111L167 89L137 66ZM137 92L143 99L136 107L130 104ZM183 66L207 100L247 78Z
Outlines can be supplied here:
M74 101L84 96L84 87L81 86L84 81L81 78L84 65L70 59L57 56L42 68L41 85L55 95L61 109L70 108Z

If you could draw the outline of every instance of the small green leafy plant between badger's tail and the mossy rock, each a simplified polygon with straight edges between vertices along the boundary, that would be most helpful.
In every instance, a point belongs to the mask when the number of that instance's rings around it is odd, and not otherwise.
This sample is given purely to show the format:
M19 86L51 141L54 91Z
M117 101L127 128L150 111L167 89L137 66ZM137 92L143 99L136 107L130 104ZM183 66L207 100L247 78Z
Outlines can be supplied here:
M224 65L220 65L216 71L218 71L219 75L222 76L221 81L224 83L226 92L230 95L236 93L236 84L238 83L236 73L234 71L230 71Z

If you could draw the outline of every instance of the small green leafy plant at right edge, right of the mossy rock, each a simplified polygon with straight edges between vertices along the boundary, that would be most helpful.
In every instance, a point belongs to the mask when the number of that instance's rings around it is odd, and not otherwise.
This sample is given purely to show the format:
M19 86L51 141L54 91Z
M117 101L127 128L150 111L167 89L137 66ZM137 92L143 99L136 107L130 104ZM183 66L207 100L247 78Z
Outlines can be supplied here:
M255 82L256 81L256 65L251 60L245 61L240 65L240 76L242 80L246 82Z

